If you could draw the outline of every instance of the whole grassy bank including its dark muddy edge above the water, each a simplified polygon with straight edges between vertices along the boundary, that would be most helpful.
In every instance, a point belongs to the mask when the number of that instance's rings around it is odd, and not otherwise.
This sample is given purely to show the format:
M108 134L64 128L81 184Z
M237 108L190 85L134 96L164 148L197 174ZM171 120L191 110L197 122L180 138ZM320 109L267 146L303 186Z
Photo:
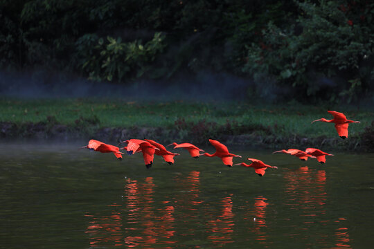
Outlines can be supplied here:
M327 110L346 113L349 137L340 140ZM371 150L374 111L370 108L264 105L245 102L128 102L126 100L57 99L0 100L1 136L53 136L128 139L147 136L165 142L204 143L217 138L231 143L264 147L326 145ZM317 145L315 145L317 146Z

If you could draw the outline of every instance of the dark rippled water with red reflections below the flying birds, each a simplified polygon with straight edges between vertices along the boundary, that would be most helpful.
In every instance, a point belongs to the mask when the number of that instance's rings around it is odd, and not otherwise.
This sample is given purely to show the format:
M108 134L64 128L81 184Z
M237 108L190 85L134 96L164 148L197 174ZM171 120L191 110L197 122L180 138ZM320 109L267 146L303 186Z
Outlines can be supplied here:
M219 158L152 169L81 145L1 144L1 248L371 248L374 154L321 165L271 151L265 176ZM211 147L204 148L213 151ZM241 158L234 158L240 163Z

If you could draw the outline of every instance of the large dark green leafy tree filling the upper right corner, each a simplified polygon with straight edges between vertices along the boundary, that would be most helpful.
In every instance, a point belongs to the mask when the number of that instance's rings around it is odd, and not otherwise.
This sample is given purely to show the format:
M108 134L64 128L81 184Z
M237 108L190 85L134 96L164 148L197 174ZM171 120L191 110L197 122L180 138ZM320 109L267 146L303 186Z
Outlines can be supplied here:
M350 102L369 89L371 71L365 68L372 62L365 62L364 58L371 57L372 61L374 55L374 25L368 23L366 10L374 8L374 3L295 3L301 12L296 19L301 33L294 32L295 26L279 28L269 21L267 28L262 29L260 41L247 46L248 61L242 71L255 79L258 75L275 77L276 84L299 89L302 98L322 95L332 100L326 94L331 93L330 96L340 95ZM339 80L339 87L319 83L326 77L341 75L344 79Z

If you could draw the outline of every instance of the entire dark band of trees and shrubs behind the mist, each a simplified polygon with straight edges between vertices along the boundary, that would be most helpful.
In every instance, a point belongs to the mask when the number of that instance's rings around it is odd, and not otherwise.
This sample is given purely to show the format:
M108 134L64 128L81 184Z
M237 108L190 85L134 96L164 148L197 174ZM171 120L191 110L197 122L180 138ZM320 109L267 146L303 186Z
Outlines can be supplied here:
M373 1L1 0L0 66L130 84L226 72L249 96L374 92ZM156 83L157 84L157 81Z

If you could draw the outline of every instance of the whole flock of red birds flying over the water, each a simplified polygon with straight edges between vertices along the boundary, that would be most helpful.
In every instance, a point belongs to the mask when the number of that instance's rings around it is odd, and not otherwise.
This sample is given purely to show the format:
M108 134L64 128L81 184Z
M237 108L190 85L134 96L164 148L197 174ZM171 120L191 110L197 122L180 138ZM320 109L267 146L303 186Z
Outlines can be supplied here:
M334 116L332 120L326 120L325 118L321 118L319 120L314 120L313 122L322 121L322 122L335 123L335 129L337 129L337 133L343 139L348 137L348 124L352 122L359 122L359 121L347 120L346 116L344 116L343 113L339 113L337 111L328 111L328 113ZM157 156L162 156L163 159L166 161L166 163L169 163L170 165L174 164L174 157L179 156L179 154L168 151L166 147L150 139L144 139L144 140L130 139L130 140L126 140L123 142L127 142L127 146L119 148L114 145L107 145L104 142L100 142L98 140L89 140L89 144L84 147L81 147L80 149L88 148L91 151L100 151L101 153L113 153L114 156L116 156L116 158L118 158L119 160L122 160L122 155L124 154L123 152L120 151L121 149L127 151L127 154L129 155L132 155L136 152L141 152L143 154L145 166L148 169L152 167L154 154L156 154ZM199 149L195 145L192 145L188 142L184 142L181 144L177 144L176 142L173 142L170 145L174 146L174 149L178 149L178 148L187 149L193 158L199 158L199 156L208 156L208 157L217 156L221 158L224 165L227 165L229 167L233 167L233 157L238 157L238 158L242 157L239 155L231 154L229 152L229 149L227 149L225 145L223 145L221 142L218 142L217 140L209 139L209 142L211 142L211 145L215 147L214 154L208 154L204 150ZM200 152L204 152L204 153L200 154ZM320 149L315 149L315 148L308 148L305 151L302 151L300 149L287 149L287 150L282 149L280 151L274 151L273 153L291 154L292 156L296 156L301 160L308 160L308 158L317 158L319 163L326 163L326 156L334 156L332 154L328 154L326 152L321 151ZM256 174L258 174L259 176L263 176L265 174L265 169L267 168L278 169L278 167L276 166L267 165L263 163L261 160L258 160L255 158L247 158L247 159L250 160L252 163L251 164L237 163L235 165L242 165L244 167L253 167Z

